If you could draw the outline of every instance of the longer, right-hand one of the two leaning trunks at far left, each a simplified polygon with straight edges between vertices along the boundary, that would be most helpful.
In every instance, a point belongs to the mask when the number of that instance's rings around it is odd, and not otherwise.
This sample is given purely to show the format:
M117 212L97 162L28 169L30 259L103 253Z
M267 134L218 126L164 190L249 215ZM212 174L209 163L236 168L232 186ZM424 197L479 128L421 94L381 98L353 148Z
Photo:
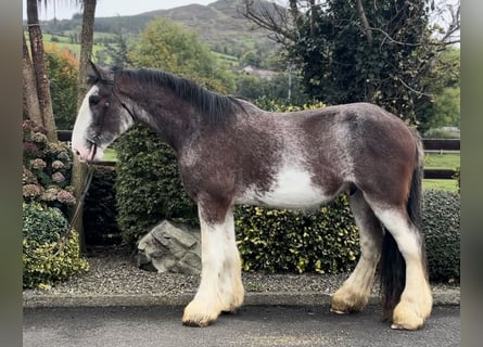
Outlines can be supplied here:
M55 142L58 141L58 134L43 57L42 31L40 30L37 0L27 0L27 23L37 95L42 115L42 126L47 130L48 139Z

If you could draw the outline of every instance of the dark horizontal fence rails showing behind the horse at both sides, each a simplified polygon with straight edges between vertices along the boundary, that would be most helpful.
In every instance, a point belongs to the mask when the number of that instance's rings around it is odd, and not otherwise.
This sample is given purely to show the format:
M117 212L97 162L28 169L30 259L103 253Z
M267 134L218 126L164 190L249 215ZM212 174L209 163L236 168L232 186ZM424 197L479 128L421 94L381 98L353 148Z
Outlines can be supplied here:
M69 142L72 138L72 130L58 130L60 141ZM425 153L459 153L459 139L423 139ZM98 165L114 166L114 162L101 162ZM456 171L454 169L424 169L424 178L449 180L453 179Z

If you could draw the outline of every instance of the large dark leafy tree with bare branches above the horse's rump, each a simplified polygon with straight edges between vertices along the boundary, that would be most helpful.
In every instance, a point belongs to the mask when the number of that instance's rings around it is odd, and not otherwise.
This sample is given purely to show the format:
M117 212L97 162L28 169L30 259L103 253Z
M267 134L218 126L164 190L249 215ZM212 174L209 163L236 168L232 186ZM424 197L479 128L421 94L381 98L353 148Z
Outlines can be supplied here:
M329 104L373 102L424 130L440 77L433 66L457 41L459 10L436 38L430 25L436 9L427 0L290 0L284 12L277 8L282 22L253 0L244 3L245 15L284 44L309 97Z

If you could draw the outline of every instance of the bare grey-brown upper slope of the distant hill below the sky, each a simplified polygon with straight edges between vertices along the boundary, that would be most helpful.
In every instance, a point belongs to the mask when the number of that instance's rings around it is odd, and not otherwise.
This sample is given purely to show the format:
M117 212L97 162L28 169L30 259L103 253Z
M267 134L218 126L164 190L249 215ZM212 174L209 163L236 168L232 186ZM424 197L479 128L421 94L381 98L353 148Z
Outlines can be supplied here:
M270 2L257 0L258 5L272 9ZM199 33L200 41L214 51L240 56L249 50L267 52L276 48L266 31L255 26L240 13L241 0L218 0L208 5L190 4L170 10L158 10L132 16L97 17L97 34L114 34L122 30L127 37L136 37L145 24L156 16L168 17ZM80 30L81 16L72 20L43 22L45 33L62 35Z

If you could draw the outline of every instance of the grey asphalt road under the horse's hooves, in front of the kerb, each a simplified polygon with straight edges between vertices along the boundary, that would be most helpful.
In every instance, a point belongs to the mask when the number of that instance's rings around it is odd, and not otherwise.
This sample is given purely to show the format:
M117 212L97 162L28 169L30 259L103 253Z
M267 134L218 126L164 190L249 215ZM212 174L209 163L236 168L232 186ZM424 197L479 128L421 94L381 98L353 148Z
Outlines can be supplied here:
M393 331L377 306L351 316L328 307L245 306L204 329L181 325L182 307L24 309L24 347L459 346L458 306L434 307L424 329Z

